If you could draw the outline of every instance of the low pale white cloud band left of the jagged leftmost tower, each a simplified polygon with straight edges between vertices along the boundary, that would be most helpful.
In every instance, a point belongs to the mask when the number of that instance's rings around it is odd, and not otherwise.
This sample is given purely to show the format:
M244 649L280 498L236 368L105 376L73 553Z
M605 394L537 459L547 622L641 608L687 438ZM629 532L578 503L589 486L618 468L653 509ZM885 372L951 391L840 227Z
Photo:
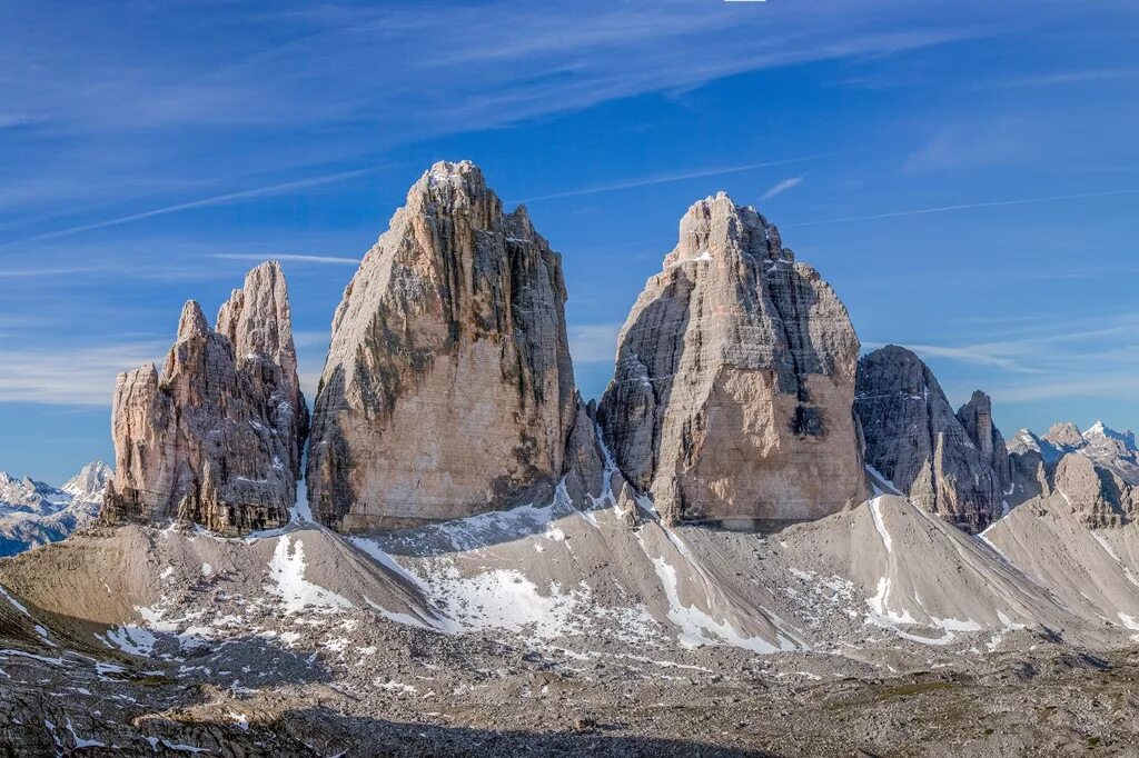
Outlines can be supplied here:
M156 361L167 347L147 340L91 347L0 349L0 402L110 405L115 377Z

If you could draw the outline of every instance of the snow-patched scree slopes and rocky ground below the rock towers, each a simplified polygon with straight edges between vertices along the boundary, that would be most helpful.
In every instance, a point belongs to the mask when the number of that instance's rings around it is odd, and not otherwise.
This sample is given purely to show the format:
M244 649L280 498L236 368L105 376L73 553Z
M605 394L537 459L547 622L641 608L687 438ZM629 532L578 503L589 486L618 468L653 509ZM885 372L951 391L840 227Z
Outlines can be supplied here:
M769 537L558 501L371 538L297 516L243 539L92 527L0 562L7 755L1039 756L1139 743L1136 611L1112 588L1133 571L1130 526L1050 560L1054 593L888 496ZM994 544L1018 565L1033 544L1057 555L1021 521L1049 524L1024 511ZM1062 571L1099 590L1064 591Z

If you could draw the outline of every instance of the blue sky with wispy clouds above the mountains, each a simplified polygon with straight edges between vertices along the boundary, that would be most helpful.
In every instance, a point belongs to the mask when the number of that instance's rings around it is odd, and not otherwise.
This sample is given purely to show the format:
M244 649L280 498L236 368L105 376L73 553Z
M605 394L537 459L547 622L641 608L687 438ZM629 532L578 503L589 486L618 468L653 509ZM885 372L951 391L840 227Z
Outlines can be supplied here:
M116 372L263 258L311 387L354 259L443 158L562 252L587 395L722 189L954 404L1139 427L1137 133L1130 3L3 3L0 469L109 459Z

